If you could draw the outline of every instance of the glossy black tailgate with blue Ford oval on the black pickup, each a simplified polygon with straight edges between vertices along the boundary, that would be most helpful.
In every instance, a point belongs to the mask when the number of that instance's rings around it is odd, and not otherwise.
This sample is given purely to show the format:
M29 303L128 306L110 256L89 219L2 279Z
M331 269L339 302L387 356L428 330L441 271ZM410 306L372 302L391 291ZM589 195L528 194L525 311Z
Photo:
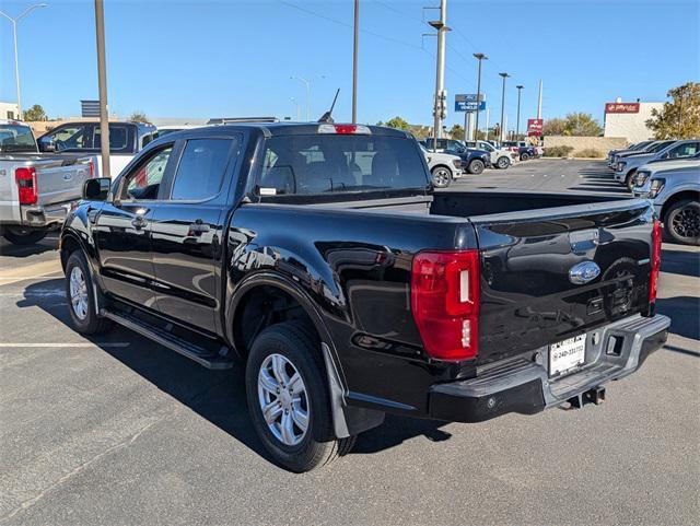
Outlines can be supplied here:
M479 363L649 311L649 202L626 199L470 220L481 252Z

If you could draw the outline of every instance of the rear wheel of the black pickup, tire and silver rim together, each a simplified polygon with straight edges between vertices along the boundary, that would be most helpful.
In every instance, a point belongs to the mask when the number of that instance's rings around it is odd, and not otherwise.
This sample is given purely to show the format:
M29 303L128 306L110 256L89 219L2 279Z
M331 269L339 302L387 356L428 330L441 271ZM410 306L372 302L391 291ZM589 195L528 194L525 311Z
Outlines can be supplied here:
M293 382L298 389L294 396L289 381L295 374L301 384ZM253 426L281 467L305 472L350 452L354 436L335 437L320 342L306 324L284 322L262 330L253 342L245 376ZM272 408L268 411L270 424L264 405ZM305 430L298 424L304 422Z

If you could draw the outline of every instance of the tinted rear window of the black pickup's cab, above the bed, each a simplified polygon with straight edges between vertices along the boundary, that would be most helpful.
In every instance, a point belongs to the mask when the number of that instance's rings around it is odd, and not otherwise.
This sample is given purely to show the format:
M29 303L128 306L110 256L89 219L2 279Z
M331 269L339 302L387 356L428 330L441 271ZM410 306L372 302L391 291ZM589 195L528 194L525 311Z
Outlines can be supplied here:
M424 188L429 179L412 139L382 136L282 136L267 140L262 196Z

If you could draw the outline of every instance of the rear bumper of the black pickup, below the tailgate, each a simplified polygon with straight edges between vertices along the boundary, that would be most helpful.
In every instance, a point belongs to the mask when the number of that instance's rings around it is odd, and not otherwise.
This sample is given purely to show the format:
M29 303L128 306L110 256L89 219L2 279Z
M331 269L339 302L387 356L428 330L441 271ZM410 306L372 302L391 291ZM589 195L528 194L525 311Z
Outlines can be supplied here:
M481 422L510 412L534 414L637 371L667 338L670 319L633 316L588 334L586 365L549 378L548 349L483 367L476 378L438 384L430 389L430 417Z

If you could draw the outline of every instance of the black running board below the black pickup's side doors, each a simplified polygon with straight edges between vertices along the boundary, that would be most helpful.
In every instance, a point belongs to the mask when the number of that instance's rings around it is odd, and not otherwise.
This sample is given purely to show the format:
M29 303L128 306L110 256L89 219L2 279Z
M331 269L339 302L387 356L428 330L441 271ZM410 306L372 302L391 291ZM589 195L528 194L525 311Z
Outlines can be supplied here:
M173 335L167 328L161 328L150 325L136 316L128 313L114 313L105 308L100 309L100 315L112 319L113 322L133 330L139 335L160 343L163 347L182 354L183 356L194 360L207 369L231 369L234 364L234 356L231 350L221 346L219 352L211 352L208 349L198 347L189 341Z

